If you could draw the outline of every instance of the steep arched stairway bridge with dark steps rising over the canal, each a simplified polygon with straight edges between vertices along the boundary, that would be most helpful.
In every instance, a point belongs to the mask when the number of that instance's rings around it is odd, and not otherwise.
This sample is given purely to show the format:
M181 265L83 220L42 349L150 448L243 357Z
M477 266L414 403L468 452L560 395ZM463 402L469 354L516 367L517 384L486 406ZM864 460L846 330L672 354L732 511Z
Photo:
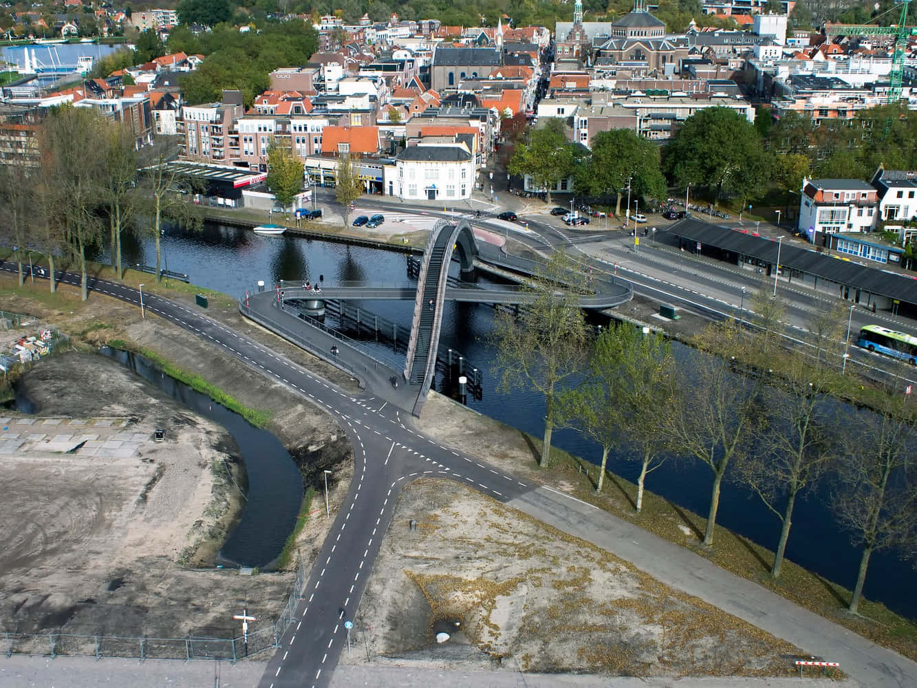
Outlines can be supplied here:
M473 245L474 235L467 220L460 220L456 225L450 225L446 220L437 222L430 232L420 264L411 338L404 362L404 380L420 385L414 416L420 416L436 372L436 350L443 322L449 263L459 235L462 235L463 243Z

